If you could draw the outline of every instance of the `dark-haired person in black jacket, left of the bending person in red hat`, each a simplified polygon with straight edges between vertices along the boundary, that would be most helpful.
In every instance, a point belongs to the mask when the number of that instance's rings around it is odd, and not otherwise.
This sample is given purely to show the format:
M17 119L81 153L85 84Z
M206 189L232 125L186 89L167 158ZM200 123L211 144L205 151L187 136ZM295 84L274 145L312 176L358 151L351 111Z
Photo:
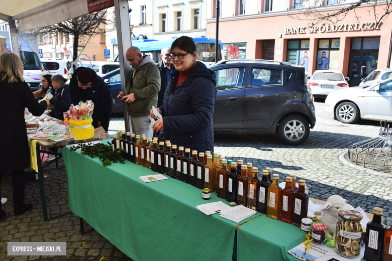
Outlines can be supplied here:
M69 85L66 84L66 80L60 74L56 74L51 78L53 88L56 90L54 97L50 101L46 101L48 104L52 104L54 108L50 111L49 116L64 120L64 112L69 110L71 106L71 95L69 93Z

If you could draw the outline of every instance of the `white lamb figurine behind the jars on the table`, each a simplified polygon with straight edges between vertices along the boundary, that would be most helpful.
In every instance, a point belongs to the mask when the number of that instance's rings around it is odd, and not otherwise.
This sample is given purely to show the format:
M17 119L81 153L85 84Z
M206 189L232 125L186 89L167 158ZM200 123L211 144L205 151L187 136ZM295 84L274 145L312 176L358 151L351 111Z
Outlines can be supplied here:
M327 226L327 233L332 235L333 239L335 239L339 211L343 209L354 209L350 204L347 204L347 202L348 200L341 196L332 195L327 199L327 202L325 202L323 206L323 213L321 213L320 222Z

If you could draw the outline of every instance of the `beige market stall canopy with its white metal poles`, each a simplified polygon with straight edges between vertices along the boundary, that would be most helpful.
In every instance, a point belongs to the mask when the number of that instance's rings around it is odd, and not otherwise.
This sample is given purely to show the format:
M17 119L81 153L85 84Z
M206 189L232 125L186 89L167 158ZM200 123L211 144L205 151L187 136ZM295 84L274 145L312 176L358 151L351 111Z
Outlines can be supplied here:
M9 22L12 51L19 55L18 32L31 31L86 15L88 4L96 2L107 6L114 2L115 5L119 54L123 54L119 55L121 89L125 91L125 81L131 71L125 58L126 50L131 47L128 0L2 0L0 19ZM18 21L18 27L15 21ZM125 105L124 119L126 131L131 132L131 121Z

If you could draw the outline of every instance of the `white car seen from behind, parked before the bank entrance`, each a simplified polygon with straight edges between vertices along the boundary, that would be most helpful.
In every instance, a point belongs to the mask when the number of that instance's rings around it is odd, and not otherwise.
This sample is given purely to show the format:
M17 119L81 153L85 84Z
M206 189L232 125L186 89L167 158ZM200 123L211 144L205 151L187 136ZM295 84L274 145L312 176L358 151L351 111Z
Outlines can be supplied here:
M350 80L341 71L335 70L316 70L306 78L315 98L325 98L333 91L347 88L347 81Z

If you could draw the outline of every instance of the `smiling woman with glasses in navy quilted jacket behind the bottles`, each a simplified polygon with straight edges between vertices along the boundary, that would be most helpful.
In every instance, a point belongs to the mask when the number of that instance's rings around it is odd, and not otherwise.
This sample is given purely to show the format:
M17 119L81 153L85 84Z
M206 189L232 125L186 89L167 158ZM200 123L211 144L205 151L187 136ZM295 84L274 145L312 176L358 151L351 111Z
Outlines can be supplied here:
M181 36L171 45L175 71L166 88L162 118L154 131L163 131L164 140L198 152L214 154L213 114L217 95L215 72L195 61L193 39ZM151 110L151 115L156 118Z

